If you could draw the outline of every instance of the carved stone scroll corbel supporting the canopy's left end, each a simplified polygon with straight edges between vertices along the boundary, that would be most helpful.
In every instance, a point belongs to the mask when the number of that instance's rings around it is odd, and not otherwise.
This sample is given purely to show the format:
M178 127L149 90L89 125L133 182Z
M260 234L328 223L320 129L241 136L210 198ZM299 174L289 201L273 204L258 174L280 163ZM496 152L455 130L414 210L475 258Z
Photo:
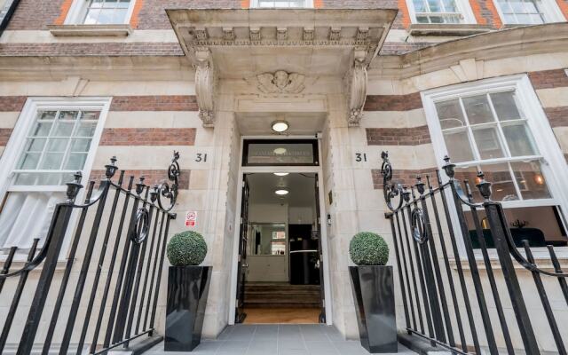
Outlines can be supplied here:
M195 94L203 127L213 127L215 123L213 100L216 84L217 77L209 48L195 51Z

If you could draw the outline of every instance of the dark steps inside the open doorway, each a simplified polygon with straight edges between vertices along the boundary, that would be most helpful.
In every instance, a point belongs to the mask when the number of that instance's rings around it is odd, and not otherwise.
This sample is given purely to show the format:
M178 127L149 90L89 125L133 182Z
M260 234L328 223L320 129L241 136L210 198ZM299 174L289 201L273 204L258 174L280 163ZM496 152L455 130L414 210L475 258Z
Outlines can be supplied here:
M248 308L319 308L319 285L251 282L245 286Z

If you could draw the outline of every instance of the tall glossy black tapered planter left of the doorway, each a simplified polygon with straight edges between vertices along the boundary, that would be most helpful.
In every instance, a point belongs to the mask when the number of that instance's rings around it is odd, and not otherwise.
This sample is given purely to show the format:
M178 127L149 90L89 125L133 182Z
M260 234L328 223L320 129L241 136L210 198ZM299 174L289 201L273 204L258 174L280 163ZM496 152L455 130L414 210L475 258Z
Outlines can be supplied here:
M170 266L165 351L193 351L201 343L211 269L211 266Z

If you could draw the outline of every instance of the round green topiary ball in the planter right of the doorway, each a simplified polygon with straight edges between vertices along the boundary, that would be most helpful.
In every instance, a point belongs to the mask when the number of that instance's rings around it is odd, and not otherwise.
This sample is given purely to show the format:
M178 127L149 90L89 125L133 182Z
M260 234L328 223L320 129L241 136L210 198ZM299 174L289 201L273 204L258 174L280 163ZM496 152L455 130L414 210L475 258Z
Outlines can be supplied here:
M357 265L384 265L389 261L389 245L376 233L357 233L349 243L351 260Z

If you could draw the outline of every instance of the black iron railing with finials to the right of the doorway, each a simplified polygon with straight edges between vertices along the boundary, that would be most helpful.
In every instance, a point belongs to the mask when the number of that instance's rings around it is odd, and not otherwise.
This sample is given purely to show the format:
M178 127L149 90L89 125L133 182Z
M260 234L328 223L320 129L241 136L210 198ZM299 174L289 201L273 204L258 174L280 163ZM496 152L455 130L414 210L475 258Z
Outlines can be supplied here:
M391 181L392 167L383 152L386 217L406 331L454 354L566 354L568 332L558 321L567 320L568 274L554 248L547 246L548 256L537 264L528 241L517 248L483 172L476 185L483 202L476 203L469 182L458 181L455 165L447 157L445 161L446 183L437 171L437 186L430 176L406 186ZM495 252L487 248L487 229ZM552 270L539 264L552 265ZM530 307L527 299L533 299Z

